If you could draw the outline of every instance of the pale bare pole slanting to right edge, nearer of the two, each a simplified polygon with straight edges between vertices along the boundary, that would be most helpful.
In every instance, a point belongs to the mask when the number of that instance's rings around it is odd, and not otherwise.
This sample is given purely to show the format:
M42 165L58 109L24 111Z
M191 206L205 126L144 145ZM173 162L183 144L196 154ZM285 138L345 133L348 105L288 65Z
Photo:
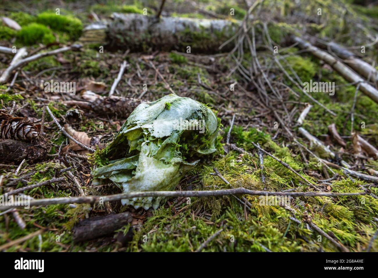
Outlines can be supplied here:
M378 103L378 90L376 90L372 85L366 83L366 81L361 78L355 71L350 69L348 66L344 65L342 62L338 61L331 54L314 47L310 43L302 40L300 37L293 37L293 41L298 43L298 46L302 49L310 51L318 59L323 60L328 65L330 65L334 70L336 70L343 78L349 82L359 84L359 89L365 95L369 96L373 101Z

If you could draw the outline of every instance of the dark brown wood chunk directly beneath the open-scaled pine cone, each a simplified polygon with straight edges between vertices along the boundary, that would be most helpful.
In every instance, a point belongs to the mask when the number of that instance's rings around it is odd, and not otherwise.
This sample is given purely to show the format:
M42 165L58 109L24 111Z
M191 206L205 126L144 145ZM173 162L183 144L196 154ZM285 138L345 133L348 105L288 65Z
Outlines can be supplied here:
M43 143L0 139L0 161L2 163L19 163L27 159L36 163L47 158L47 149Z

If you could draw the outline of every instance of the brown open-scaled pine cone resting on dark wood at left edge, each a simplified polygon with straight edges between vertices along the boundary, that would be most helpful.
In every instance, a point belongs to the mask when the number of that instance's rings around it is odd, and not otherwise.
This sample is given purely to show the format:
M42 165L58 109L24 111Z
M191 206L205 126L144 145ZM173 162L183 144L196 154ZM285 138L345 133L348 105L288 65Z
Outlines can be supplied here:
M0 139L31 141L36 139L39 131L35 124L26 117L12 117L0 109Z

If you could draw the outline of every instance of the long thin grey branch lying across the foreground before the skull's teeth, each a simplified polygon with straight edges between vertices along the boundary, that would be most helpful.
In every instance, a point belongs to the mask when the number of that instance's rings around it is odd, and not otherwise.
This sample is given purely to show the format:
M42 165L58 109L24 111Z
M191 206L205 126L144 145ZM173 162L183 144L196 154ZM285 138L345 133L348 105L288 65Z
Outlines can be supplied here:
M366 195L365 192L338 193L338 192L274 192L250 190L243 187L220 190L203 190L203 191L136 191L131 193L119 193L106 196L85 196L85 197L62 197L51 199L31 200L30 207L40 205L67 204L67 203L98 203L112 202L121 199L132 199L136 197L209 197L209 196L227 196L236 194L246 194L254 196L292 196L292 197L335 197L335 196L360 196ZM24 207L19 203L14 206L0 206L0 211L8 210L11 207Z

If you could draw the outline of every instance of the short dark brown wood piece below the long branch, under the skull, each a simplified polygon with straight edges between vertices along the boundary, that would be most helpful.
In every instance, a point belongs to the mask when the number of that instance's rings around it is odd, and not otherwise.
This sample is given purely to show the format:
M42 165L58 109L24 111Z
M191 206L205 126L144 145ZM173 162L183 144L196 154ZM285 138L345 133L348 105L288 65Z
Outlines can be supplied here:
M128 212L82 219L73 227L73 240L80 242L109 235L130 223L132 219Z

